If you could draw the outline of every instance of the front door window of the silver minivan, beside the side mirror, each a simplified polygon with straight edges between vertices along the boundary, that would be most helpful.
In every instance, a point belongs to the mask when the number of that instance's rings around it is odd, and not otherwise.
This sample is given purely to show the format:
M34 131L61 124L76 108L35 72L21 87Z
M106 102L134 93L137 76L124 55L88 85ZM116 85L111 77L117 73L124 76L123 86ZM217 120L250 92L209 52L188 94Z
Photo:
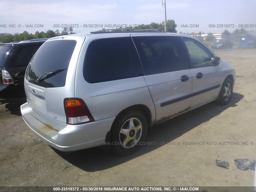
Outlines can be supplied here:
M200 42L191 38L182 38L192 60L192 68L212 66L212 53Z

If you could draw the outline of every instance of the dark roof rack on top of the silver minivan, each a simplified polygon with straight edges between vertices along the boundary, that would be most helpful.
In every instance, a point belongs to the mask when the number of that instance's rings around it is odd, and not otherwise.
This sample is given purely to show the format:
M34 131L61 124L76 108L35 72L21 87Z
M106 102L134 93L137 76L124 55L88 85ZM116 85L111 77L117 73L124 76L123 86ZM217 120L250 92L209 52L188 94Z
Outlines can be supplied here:
M99 31L92 31L90 33L92 34L97 34L97 33L124 33L124 32L161 32L165 33L165 31L161 29L138 29L138 30L133 30L133 29L125 29L125 28L117 28L117 29L103 29Z

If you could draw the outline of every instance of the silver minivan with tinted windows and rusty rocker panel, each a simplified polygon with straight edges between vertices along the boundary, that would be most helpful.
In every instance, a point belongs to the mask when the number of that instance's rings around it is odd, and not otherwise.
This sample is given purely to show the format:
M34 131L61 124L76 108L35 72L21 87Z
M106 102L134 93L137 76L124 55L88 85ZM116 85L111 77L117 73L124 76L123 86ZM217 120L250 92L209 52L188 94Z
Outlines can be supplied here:
M132 154L147 129L216 101L230 102L235 70L202 42L166 32L58 36L25 74L22 117L61 151L110 145Z

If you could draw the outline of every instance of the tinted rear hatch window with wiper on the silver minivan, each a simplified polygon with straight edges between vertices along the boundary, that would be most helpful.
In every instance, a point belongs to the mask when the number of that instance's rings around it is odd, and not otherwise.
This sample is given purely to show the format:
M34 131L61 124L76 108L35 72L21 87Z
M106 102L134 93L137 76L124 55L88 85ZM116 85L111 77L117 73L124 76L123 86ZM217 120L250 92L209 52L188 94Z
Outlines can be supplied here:
M74 40L45 42L28 65L26 79L46 88L65 86L68 65L75 46Z

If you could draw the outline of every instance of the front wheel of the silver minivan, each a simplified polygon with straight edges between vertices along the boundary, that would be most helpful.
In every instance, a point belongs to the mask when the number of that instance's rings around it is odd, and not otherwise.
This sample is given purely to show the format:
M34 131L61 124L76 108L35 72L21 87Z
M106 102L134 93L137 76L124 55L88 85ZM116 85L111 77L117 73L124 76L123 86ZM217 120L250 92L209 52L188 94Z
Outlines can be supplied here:
M226 78L222 84L220 94L216 100L219 105L226 105L230 102L233 94L233 81L230 78Z

